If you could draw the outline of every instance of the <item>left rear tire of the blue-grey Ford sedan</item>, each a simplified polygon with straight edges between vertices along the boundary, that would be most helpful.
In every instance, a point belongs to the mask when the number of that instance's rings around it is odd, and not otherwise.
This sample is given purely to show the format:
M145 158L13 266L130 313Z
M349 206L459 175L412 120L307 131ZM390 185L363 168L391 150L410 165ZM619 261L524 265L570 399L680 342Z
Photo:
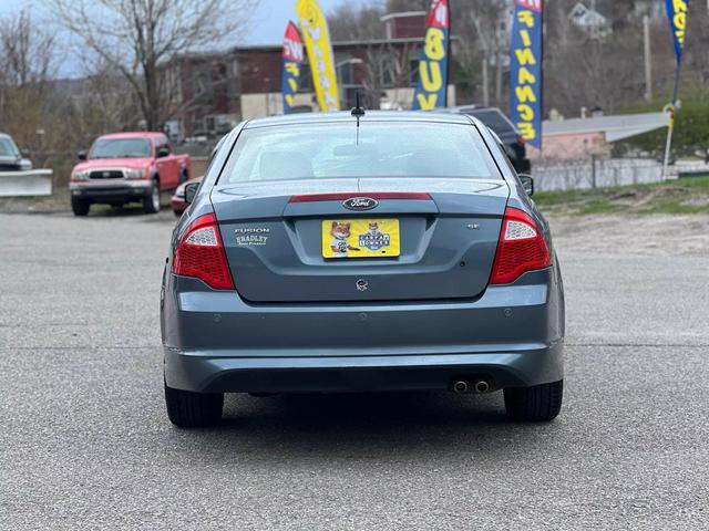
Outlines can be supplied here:
M222 419L224 393L193 393L165 384L165 405L169 421L181 428L214 426Z

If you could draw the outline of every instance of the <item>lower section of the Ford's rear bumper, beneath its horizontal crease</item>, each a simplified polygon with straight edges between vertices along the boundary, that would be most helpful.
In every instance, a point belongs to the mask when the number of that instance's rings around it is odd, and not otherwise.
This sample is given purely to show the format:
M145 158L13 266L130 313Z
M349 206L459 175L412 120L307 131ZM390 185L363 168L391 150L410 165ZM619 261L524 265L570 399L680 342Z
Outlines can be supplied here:
M494 391L562 379L562 350L266 358L165 348L165 382L202 393L336 393L451 389L460 379L484 379Z

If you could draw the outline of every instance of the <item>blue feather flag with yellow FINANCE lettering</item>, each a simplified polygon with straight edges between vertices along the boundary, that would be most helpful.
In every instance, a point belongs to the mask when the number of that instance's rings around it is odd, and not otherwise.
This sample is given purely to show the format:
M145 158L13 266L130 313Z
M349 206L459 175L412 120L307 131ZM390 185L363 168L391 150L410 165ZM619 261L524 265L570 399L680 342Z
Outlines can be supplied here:
M510 49L510 117L542 149L543 0L515 0Z

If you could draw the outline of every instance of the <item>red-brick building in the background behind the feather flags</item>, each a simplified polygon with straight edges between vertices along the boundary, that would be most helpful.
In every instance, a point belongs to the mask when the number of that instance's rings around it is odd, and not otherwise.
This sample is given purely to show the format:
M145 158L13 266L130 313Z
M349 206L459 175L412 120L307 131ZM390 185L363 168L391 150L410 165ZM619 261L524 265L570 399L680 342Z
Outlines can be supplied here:
M382 17L384 39L333 42L342 108L356 93L370 108L410 108L427 13ZM282 113L281 45L239 46L227 52L176 58L164 70L172 105L166 128L173 138L220 136L239 121ZM449 104L454 105L449 85ZM295 111L317 112L310 67L304 64Z

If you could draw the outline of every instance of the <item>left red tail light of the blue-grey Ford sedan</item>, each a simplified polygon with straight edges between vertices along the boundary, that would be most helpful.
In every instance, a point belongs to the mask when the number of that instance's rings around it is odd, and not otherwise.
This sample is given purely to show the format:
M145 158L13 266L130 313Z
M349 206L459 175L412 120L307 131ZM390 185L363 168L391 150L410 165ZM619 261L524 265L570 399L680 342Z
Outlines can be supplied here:
M194 277L215 290L234 290L214 214L197 218L187 228L175 251L173 273Z

